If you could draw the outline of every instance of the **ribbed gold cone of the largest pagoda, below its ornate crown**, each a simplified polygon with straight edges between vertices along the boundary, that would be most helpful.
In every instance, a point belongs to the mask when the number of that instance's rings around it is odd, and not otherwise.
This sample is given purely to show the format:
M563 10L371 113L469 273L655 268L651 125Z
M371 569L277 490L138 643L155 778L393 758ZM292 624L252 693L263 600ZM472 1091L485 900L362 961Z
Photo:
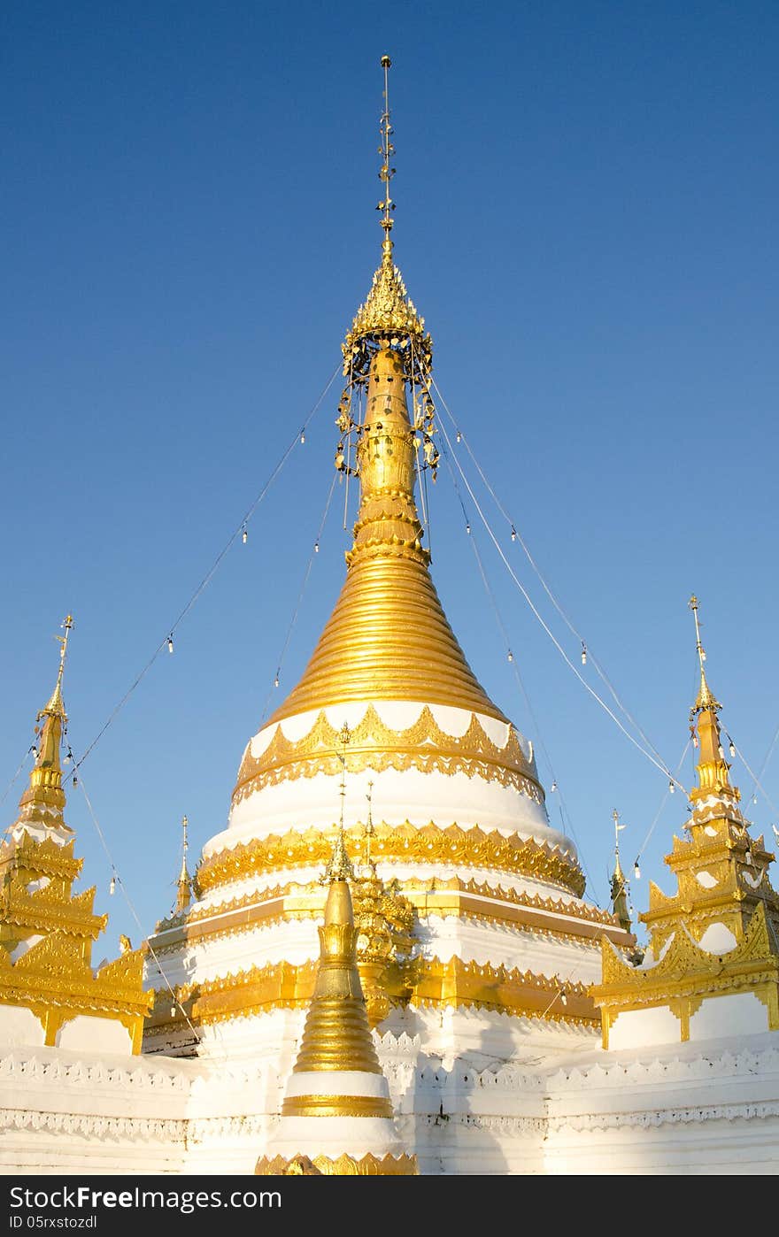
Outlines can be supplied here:
M508 721L468 666L430 576L415 450L400 360L385 349L370 367L347 578L300 683L269 725L350 700L419 700Z

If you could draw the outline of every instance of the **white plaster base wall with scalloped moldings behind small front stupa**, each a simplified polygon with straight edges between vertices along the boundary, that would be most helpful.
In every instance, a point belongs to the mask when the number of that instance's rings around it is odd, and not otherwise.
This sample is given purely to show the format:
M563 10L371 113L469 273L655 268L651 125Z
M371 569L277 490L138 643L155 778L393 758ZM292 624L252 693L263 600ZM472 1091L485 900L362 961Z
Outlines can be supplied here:
M603 1053L539 1019L447 1014L409 1011L417 1034L376 1037L422 1174L779 1173L777 1032ZM261 1059L6 1054L0 1173L251 1173L279 1131L272 1038L301 1022L265 1021Z

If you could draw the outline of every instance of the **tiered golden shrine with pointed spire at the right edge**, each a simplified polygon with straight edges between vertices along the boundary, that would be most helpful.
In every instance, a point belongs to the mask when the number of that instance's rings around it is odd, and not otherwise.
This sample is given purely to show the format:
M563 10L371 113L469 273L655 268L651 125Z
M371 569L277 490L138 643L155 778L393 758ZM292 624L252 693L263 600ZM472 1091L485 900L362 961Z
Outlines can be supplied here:
M648 1011L668 1011L680 1040L705 1038L715 1027L727 1034L728 1023L733 1033L779 1029L779 894L768 878L774 856L762 835L751 836L738 805L722 743L722 705L706 679L697 597L690 609L700 663L690 711L698 784L690 790L686 837L674 837L665 856L677 892L668 897L650 883L649 910L639 915L650 938L643 964L632 966L603 940L603 980L592 996L604 1048L624 1047L617 1019L627 1027ZM666 1029L672 1024L665 1021Z

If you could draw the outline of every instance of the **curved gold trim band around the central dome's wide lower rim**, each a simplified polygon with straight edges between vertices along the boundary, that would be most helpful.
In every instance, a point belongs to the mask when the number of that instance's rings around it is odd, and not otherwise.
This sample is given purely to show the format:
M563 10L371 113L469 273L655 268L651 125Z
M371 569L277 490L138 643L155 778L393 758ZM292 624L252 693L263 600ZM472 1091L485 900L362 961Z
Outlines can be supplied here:
M432 823L416 826L405 821L403 825L381 823L374 828L370 855L376 862L394 858L411 863L462 863L549 881L564 886L578 898L585 892L586 882L578 865L566 858L559 847L534 839L504 837L497 830L484 833L478 825L472 829L461 829L459 825L441 829ZM354 826L344 833L352 861L364 861L364 830ZM305 833L290 830L220 850L198 867L198 888L207 892L263 872L327 863L334 837L334 826L327 833L318 829Z

